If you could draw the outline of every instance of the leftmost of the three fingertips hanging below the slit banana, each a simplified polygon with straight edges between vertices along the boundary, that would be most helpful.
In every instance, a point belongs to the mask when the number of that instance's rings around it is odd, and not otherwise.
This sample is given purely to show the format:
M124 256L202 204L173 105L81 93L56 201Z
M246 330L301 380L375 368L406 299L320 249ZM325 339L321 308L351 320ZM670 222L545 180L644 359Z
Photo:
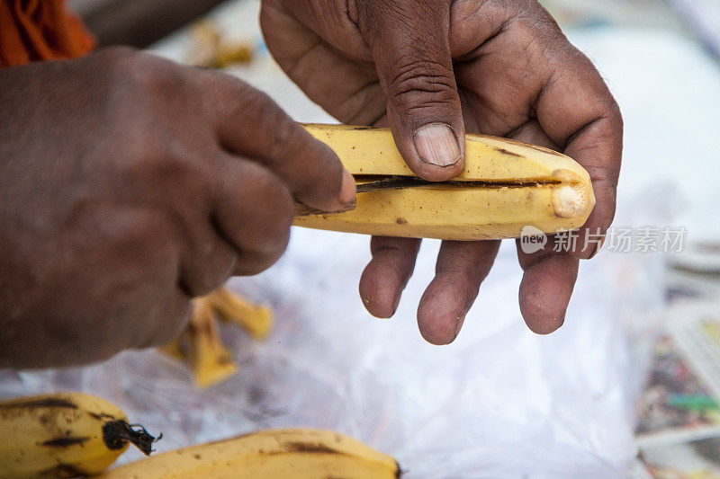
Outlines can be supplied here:
M360 278L360 297L368 313L380 318L395 314L402 290L415 269L419 248L419 239L373 236L373 259Z

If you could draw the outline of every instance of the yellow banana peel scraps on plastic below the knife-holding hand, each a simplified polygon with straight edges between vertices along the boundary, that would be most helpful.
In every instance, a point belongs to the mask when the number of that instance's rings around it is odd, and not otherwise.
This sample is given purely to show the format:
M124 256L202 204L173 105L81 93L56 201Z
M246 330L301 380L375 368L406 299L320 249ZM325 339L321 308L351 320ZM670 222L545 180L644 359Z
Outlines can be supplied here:
M257 339L266 337L273 324L267 306L251 305L226 288L194 299L190 323L175 341L160 350L187 363L195 385L201 388L218 384L238 372L229 350L220 342L216 317L239 324Z

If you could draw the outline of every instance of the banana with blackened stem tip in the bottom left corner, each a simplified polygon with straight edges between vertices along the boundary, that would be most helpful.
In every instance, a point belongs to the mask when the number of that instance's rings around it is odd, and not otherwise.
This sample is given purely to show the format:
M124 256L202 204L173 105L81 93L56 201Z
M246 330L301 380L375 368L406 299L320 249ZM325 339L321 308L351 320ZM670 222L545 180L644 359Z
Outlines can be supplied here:
M114 404L64 393L0 403L0 478L76 477L102 472L133 443L156 439Z

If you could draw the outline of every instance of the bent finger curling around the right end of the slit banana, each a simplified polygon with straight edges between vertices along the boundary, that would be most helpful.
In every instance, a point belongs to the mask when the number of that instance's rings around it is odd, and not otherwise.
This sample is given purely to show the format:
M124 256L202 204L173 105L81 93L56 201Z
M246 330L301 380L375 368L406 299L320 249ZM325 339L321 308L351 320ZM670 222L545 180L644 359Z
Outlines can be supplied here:
M561 57L563 65L556 67L540 93L536 110L547 135L590 173L596 205L572 252L585 259L599 249L599 242L592 238L604 235L615 217L623 119L590 59L569 44L568 49Z

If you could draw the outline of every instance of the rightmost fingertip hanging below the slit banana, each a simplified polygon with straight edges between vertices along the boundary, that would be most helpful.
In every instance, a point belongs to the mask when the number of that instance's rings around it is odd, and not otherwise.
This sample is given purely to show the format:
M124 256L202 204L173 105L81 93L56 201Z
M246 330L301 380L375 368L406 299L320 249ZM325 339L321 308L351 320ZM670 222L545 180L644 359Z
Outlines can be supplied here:
M525 273L520 282L520 313L537 334L553 333L565 321L579 262L568 253L523 253L518 241L518 260Z

